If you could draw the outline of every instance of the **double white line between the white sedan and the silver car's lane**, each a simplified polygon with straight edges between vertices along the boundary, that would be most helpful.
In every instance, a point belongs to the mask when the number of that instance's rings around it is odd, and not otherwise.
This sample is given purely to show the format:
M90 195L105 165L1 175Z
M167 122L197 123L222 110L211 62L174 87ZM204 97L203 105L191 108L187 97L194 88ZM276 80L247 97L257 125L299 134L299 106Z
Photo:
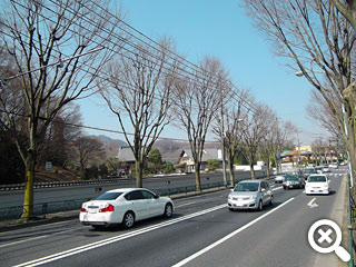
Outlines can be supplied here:
M51 261L55 261L55 260L58 260L58 259L61 259L61 258L66 258L66 257L69 257L69 256L76 255L76 254L88 251L90 249L98 248L98 247L101 247L101 246L106 246L106 245L109 245L111 243L117 243L117 241L120 241L120 240L123 240L123 239L127 239L127 238L130 238L130 237L134 237L134 236L138 236L138 235L145 234L145 233L148 233L148 231L151 231L151 230L156 230L156 229L169 226L169 225L174 225L174 224L177 224L177 222L180 222L180 221L184 221L184 220L188 220L188 219L191 219L194 217L197 217L197 216L200 216L200 215L205 215L205 214L208 214L208 212L221 209L221 208L226 208L226 207L227 207L226 204L219 205L219 206L216 206L216 207L212 207L212 208L209 208L209 209L205 209L205 210L201 210L201 211L198 211L198 212L195 212L195 214L182 216L182 217L177 218L177 219L171 219L171 220L168 220L168 221L165 221L165 222L160 222L160 224L157 224L157 225L154 225L154 226L149 226L149 227L146 227L146 228L142 228L142 229L134 230L131 233L127 233L127 234L122 234L122 235L119 235L119 236L110 237L108 239L103 239L103 240L100 240L100 241L91 243L91 244L83 245L83 246L80 246L80 247L77 247L77 248L72 248L72 249L69 249L69 250L66 250L66 251L62 251L62 253L58 253L58 254L49 255L47 257L42 257L42 258L39 258L39 259L27 261L27 263L17 265L14 267L22 267L22 266L30 267L30 266L39 266L39 265L48 264L48 263L51 263Z

